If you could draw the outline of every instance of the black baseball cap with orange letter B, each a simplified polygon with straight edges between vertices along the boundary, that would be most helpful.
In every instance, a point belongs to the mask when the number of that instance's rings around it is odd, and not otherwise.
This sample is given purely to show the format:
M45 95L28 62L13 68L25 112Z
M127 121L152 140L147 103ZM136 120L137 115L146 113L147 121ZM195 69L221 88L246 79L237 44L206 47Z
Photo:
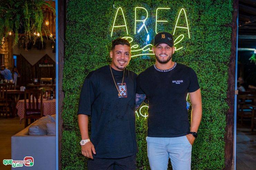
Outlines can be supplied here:
M168 32L160 32L157 33L154 39L154 46L157 46L158 44L165 43L168 44L170 47L174 46L174 39L173 35L171 35Z

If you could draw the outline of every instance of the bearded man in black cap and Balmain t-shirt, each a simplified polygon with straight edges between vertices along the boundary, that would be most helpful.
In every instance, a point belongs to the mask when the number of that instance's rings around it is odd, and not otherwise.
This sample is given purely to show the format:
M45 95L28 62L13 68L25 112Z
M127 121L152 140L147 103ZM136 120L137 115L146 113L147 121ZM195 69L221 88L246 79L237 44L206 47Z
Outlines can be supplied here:
M172 61L174 39L170 33L155 36L156 64L137 77L136 109L147 98L147 151L151 170L167 170L170 158L174 170L191 169L191 149L202 116L201 92L196 73ZM186 99L192 104L191 125Z

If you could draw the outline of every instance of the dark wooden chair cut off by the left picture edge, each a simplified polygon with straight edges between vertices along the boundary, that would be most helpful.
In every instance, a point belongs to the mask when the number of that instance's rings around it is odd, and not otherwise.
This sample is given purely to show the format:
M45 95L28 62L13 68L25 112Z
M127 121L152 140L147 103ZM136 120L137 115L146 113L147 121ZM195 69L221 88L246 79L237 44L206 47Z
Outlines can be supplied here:
M11 102L8 100L7 84L0 84L0 113L11 116ZM8 109L9 108L9 109Z

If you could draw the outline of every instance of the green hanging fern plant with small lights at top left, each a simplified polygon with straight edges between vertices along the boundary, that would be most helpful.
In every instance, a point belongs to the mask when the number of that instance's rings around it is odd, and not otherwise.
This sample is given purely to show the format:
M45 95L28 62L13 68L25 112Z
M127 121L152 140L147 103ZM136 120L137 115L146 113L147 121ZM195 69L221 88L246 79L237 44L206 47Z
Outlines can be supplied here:
M26 50L31 39L33 44L38 38L43 43L42 32L46 37L50 34L43 20L45 7L48 7L56 18L55 9L49 2L51 0L48 2L44 0L0 0L1 42L4 43L6 38L13 38L12 47L14 47L21 39ZM49 37L53 40L51 36Z

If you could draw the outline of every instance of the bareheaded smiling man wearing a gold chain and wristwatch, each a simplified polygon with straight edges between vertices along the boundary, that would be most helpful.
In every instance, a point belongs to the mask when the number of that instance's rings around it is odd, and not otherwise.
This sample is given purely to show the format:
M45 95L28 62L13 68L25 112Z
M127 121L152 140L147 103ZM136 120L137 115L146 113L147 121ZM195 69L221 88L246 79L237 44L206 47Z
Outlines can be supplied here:
M126 69L130 52L126 39L113 40L111 64L90 72L83 83L77 114L81 152L89 158L88 170L136 169L137 75ZM88 116L91 116L90 139Z

